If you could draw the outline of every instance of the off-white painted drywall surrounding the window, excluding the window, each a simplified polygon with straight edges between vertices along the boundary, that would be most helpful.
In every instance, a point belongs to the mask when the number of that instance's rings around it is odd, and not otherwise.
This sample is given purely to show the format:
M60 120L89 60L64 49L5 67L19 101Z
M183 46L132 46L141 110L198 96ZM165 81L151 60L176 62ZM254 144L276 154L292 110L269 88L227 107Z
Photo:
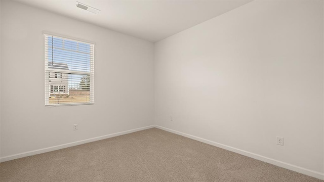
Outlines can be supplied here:
M45 107L43 31L95 42L94 105ZM11 1L1 38L2 157L152 124L153 43Z

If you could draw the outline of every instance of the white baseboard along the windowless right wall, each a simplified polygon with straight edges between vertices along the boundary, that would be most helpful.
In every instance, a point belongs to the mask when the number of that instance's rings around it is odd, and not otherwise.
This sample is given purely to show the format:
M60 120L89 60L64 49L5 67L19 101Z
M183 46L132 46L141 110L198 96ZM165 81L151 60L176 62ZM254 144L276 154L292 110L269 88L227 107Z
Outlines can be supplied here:
M265 156L262 156L262 155L254 154L252 152L236 149L234 147L230 147L230 146L223 145L223 144L220 144L220 143L217 143L217 142L202 139L202 138L199 138L197 136L194 136L194 135L191 135L191 134L186 134L186 133L183 133L183 132L180 132L180 131L176 131L176 130L173 130L173 129L163 127L163 126L154 125L154 127L159 128L159 129L163 129L165 131L169 131L169 132L172 132L172 133L175 133L175 134L185 136L186 138L189 138L189 139L193 139L193 140L203 142L203 143L206 143L206 144L209 144L209 145L212 145L212 146L216 146L216 147L219 147L219 148L222 148L222 149L225 149L225 150L229 150L229 151L241 154L241 155L245 155L245 156L248 156L248 157L263 161L263 162L267 162L267 163L270 163L270 164L273 164L273 165L276 165L276 166L279 166L279 167L283 167L283 168L293 170L293 171L296 171L296 172L299 172L299 173L302 173L302 174L306 174L306 175L309 175L309 176L312 176L312 177L316 177L318 179L324 179L324 173L321 173L321 172L306 169L306 168L303 168L303 167L300 167L300 166L296 166L296 165L289 164L289 163L286 163L286 162L278 161L278 160L275 160L275 159L271 159L271 158L268 158L268 157L265 157Z

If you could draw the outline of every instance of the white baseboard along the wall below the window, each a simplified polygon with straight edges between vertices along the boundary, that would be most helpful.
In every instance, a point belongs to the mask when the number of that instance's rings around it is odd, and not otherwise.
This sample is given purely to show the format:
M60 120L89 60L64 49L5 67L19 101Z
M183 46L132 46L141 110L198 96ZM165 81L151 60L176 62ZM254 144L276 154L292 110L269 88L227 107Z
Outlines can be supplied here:
M144 129L153 128L153 127L154 127L154 125L145 126L145 127L141 127L141 128L127 130L127 131L121 131L121 132L116 132L116 133L107 134L107 135L103 135L103 136L97 136L95 138L86 139L86 140L82 140L82 141L71 142L68 144L62 144L62 145L48 147L48 148L44 148L44 149L38 149L38 150L23 152L23 153L19 153L19 154L9 155L9 156L5 156L5 157L0 157L0 162L10 161L10 160L27 157L27 156L31 156L31 155L36 155L36 154L42 154L45 152L51 152L51 151L55 151L55 150L59 150L59 149L73 147L73 146L77 146L77 145L81 145L81 144L86 144L89 142L95 142L95 141L99 141L99 140L103 140L103 139L112 138L114 136L128 134L128 133L132 133L132 132L136 132L136 131L140 131L140 130L144 130Z

